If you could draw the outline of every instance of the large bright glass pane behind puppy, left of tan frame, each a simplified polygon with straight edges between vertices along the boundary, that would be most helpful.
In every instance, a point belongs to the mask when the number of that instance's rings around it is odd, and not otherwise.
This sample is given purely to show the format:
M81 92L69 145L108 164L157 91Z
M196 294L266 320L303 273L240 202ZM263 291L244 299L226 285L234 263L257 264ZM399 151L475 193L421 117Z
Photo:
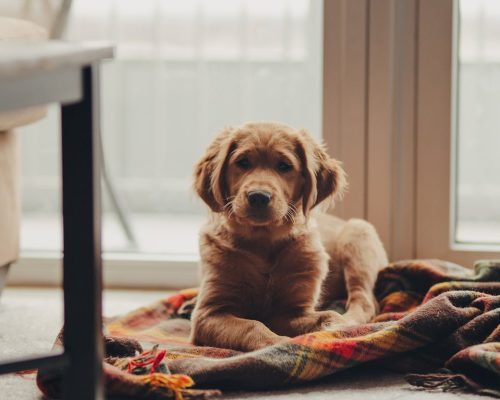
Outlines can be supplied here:
M321 132L320 0L75 0L66 38L108 40L102 67L106 251L197 252L191 173L211 138L248 120ZM24 249L60 248L58 110L23 133Z

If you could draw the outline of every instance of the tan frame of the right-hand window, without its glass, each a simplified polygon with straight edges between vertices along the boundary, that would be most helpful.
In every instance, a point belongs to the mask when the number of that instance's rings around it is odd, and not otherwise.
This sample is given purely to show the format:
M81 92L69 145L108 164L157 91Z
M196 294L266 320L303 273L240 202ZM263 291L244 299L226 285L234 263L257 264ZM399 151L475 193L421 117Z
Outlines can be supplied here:
M498 246L454 242L457 3L422 0L419 14L417 254L465 265L500 258Z

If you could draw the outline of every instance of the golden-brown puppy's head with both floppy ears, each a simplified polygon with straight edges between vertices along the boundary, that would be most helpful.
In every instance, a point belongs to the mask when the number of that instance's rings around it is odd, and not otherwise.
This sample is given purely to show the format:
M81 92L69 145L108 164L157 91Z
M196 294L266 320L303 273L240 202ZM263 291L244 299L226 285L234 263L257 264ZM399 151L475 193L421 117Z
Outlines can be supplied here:
M247 123L219 133L195 167L195 190L245 226L291 225L341 193L345 173L305 131Z

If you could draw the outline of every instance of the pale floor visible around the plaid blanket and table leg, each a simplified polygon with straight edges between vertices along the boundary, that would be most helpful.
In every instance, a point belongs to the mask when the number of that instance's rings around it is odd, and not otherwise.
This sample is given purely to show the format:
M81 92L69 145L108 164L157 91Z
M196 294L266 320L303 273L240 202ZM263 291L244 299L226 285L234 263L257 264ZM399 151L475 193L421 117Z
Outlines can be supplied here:
M160 291L112 290L104 293L105 315L140 307L165 295ZM0 359L50 349L62 322L62 293L58 289L7 288L0 299ZM474 395L424 392L412 388L402 375L385 371L346 371L321 382L288 390L228 392L225 399L311 400L460 400L485 399ZM2 400L40 400L33 376L0 376Z

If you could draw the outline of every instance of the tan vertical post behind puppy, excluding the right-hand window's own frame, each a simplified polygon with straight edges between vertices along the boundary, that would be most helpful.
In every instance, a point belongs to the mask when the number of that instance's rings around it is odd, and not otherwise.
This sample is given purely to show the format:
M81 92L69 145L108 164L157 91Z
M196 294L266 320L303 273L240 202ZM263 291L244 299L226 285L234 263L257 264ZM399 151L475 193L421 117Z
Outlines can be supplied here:
M324 139L350 185L334 212L372 222L391 259L413 258L417 0L324 7Z

